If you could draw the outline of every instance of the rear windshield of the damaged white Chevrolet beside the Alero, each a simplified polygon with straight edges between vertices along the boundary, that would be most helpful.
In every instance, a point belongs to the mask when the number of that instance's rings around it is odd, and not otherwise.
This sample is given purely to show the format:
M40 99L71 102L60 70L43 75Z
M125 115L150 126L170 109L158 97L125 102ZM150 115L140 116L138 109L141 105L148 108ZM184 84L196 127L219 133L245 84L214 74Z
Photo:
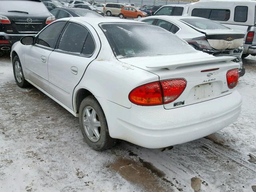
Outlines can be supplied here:
M199 29L210 29L210 30L230 30L230 28L219 24L217 22L214 22L212 20L208 19L200 19L200 18L185 18L185 19L180 19L183 22L186 22L187 24L190 24L196 28Z

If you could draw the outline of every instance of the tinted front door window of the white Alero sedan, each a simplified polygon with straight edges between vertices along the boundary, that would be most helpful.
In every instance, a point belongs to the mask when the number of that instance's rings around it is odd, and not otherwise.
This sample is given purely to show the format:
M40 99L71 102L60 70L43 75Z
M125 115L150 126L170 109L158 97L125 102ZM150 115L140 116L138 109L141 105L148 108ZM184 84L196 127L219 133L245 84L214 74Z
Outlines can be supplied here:
M65 21L55 22L46 27L36 38L36 44L54 48L55 42L58 40Z

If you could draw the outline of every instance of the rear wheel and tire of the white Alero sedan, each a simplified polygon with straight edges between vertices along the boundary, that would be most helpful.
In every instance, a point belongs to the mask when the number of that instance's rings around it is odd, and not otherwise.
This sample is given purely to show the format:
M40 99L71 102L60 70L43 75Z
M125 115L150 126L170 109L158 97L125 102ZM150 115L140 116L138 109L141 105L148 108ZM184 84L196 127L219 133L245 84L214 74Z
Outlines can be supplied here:
M103 151L116 144L116 139L109 135L105 114L94 96L82 100L79 108L79 124L84 140L94 150Z

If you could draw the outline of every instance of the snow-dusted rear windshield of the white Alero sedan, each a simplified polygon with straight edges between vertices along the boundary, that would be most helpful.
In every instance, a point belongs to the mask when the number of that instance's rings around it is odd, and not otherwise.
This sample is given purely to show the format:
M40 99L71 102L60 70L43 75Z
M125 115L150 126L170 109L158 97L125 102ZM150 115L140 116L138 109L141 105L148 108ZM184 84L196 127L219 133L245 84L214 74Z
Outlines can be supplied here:
M142 23L105 23L100 24L100 27L117 57L196 52L192 46L158 26Z

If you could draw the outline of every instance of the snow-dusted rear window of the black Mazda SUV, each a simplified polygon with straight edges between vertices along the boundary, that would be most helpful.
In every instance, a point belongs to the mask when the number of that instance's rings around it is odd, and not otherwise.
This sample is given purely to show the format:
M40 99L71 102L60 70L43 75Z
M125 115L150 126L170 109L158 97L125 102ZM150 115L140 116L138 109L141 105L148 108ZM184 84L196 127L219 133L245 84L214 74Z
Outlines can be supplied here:
M0 12L8 11L18 11L10 12L13 14L45 14L49 13L47 8L42 2L34 1L23 1L23 0L1 0L0 2ZM23 12L23 13L20 13Z

